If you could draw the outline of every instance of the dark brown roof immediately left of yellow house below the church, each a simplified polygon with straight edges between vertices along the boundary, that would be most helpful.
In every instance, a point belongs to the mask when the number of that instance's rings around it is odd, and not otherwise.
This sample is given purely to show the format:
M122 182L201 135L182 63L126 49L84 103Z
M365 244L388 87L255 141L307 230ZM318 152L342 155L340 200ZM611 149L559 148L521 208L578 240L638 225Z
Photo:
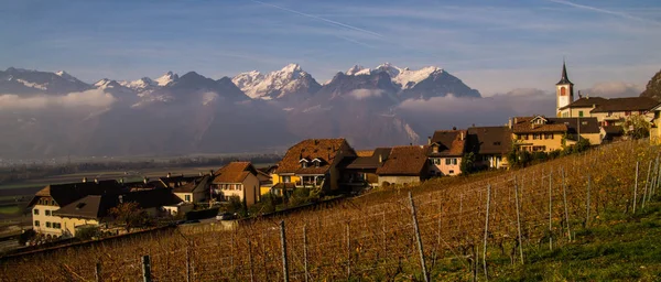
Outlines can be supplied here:
M477 154L505 154L512 148L512 131L508 127L473 127L467 145Z

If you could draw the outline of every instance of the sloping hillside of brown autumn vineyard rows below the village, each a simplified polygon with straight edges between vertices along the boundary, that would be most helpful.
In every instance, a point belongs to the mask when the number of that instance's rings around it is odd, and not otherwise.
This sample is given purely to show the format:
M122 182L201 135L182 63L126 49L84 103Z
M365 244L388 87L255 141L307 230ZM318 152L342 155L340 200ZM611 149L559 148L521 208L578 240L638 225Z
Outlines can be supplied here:
M646 141L620 142L518 171L444 177L245 221L235 231L180 227L6 259L0 279L93 280L90 262L99 262L104 280L138 280L140 257L149 254L155 280L189 273L195 281L278 281L282 219L291 281L306 272L312 281L422 280L411 191L433 281L474 273L484 280L485 265L489 280L651 281L661 274L659 153Z

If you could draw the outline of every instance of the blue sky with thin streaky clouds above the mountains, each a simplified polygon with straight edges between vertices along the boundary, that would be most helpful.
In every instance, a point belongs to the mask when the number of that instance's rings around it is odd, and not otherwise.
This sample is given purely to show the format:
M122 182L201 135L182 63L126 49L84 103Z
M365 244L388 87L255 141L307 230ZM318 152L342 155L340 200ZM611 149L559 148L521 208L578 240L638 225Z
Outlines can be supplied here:
M167 70L220 78L299 63L319 83L355 64L436 65L485 95L644 86L661 68L661 2L0 1L0 68L88 83Z

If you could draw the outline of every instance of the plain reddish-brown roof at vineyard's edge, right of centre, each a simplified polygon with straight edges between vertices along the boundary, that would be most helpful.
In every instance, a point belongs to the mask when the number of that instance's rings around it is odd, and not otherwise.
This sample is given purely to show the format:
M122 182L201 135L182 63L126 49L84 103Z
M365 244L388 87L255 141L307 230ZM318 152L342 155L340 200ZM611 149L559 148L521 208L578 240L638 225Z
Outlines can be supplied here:
M378 175L421 175L427 163L429 147L394 147L383 165L377 169Z

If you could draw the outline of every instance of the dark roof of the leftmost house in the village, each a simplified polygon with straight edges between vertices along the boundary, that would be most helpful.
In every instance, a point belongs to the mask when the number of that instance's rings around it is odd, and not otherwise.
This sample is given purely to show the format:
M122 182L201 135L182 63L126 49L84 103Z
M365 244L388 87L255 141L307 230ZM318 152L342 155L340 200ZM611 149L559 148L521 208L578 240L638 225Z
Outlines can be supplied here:
M52 197L59 207L64 207L87 195L119 194L123 191L115 180L51 184L36 192L28 206L35 205L40 197Z

